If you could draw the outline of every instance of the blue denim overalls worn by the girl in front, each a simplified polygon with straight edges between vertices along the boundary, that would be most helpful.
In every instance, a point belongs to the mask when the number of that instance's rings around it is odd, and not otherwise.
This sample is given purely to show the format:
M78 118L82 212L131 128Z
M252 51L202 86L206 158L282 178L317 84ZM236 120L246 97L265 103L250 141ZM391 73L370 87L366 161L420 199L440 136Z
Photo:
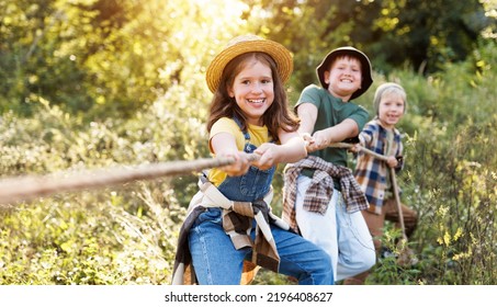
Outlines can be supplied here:
M234 118L241 127L240 122ZM256 146L242 130L244 151L251 154ZM227 177L218 190L229 200L253 202L270 191L276 167L260 170L250 166L241 177ZM268 204L269 205L269 204ZM252 240L255 237L252 228ZM331 261L328 254L301 236L271 225L271 232L280 254L280 273L294 276L300 284L334 284ZM250 259L251 248L235 249L223 229L222 209L206 208L193 224L189 234L189 248L200 284L236 285L240 283L244 260Z

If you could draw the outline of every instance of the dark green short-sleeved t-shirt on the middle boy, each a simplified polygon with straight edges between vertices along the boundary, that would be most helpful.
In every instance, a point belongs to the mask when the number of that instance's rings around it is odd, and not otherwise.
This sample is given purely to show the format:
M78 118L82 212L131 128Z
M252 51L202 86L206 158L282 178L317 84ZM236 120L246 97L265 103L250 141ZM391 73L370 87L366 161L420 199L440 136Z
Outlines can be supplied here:
M317 118L313 133L335 126L346 118L353 120L358 124L359 132L361 132L369 121L369 113L364 107L351 101L343 102L341 99L334 96L327 90L315 84L310 84L302 91L295 109L300 104L307 102L317 107ZM337 166L347 167L347 149L344 148L328 147L310 152L309 155L319 157Z

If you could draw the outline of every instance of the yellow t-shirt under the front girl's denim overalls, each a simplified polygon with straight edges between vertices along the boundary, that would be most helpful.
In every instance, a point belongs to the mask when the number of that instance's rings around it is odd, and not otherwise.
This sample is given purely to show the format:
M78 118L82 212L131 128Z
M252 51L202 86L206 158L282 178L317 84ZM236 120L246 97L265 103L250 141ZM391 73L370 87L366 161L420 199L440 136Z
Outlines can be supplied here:
M259 147L263 143L268 143L269 134L268 134L267 126L261 127L261 126L248 124L247 130L250 135L250 144L255 145L256 147ZM244 146L246 143L244 133L241 132L240 127L238 127L238 124L233 118L222 117L217 122L215 122L211 128L211 134L208 136L208 139L211 140L213 138L213 136L215 136L218 133L228 133L228 134L234 135L238 150L244 150ZM210 149L212 152L211 141L210 141ZM207 175L208 180L215 186L218 186L226 179L226 177L227 177L227 174L224 171L221 171L219 169L216 169L216 168L211 169L208 172L208 175Z

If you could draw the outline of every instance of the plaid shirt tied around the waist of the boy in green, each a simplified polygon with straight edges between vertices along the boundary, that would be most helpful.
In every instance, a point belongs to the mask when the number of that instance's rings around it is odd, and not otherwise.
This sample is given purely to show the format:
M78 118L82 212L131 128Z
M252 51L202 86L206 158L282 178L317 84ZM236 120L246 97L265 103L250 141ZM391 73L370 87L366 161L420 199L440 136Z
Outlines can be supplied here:
M284 170L283 187L283 220L298 232L295 219L295 200L297 178L303 169L314 169L314 177L304 197L304 208L309 212L325 214L334 193L334 178L339 179L341 193L348 213L354 213L369 207L368 200L352 175L352 171L342 166L336 166L321 158L308 156L307 158L287 164Z

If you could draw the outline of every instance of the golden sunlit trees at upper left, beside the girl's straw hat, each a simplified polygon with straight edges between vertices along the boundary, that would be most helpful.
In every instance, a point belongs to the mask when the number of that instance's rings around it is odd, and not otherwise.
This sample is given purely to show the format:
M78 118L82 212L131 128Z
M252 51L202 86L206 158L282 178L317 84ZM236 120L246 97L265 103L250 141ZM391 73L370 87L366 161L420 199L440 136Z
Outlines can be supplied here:
M219 48L205 37L224 42L245 26L211 23L218 12L240 10L211 2L1 2L9 15L0 23L0 110L30 115L42 96L90 118L131 116L174 84L205 92L195 76Z

